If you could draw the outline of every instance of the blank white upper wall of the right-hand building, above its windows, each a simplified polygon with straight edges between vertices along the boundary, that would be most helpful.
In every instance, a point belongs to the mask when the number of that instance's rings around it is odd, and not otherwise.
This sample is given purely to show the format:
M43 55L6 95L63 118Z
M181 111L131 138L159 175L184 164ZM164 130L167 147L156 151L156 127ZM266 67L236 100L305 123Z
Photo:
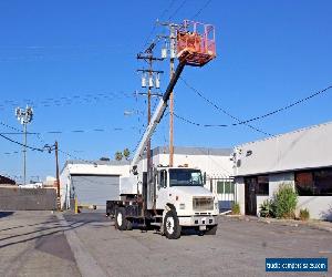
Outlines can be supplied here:
M331 166L331 137L332 122L239 145L235 148L236 161L240 160L236 174Z

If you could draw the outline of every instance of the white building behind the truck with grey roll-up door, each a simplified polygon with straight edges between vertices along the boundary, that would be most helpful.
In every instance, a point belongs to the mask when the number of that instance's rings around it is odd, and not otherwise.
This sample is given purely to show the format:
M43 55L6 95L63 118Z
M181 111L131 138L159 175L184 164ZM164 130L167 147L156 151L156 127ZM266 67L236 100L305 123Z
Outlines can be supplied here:
M174 162L176 166L200 168L210 179L225 181L232 175L231 153L231 148L174 147ZM152 150L152 160L155 165L168 165L168 147ZM146 172L146 158L141 160L138 167ZM107 199L118 198L120 177L128 175L129 161L68 161L60 175L61 206L73 207L73 198L76 196L81 205L104 208ZM218 184L220 186L220 183L209 182L207 186L217 192ZM220 197L230 201L234 196Z

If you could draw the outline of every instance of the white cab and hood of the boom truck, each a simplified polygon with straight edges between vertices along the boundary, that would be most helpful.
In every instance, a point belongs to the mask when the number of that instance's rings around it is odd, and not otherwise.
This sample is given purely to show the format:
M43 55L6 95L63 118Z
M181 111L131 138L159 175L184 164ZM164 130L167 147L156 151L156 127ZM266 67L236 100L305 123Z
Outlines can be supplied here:
M147 209L163 212L162 232L166 236L169 235L168 211L173 211L173 217L176 217L172 224L178 220L179 228L195 227L201 233L216 233L218 198L204 187L200 170L157 167L154 176L155 184L147 189Z

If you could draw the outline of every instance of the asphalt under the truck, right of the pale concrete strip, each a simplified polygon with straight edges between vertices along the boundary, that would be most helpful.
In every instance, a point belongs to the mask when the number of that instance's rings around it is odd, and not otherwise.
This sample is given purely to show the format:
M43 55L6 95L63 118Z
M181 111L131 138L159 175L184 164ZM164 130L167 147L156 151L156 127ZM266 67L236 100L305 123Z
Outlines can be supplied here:
M104 214L68 215L81 242L110 276L328 276L266 274L267 257L328 257L332 233L219 218L216 236L185 235L177 240L153 230L120 232ZM331 261L329 273L332 273ZM330 275L331 276L331 275Z

